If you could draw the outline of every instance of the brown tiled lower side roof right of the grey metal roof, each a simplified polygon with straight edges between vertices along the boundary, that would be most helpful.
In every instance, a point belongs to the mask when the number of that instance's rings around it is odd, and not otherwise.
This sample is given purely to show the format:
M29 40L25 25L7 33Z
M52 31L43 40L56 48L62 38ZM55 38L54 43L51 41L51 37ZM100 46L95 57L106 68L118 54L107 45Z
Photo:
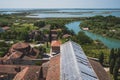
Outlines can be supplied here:
M97 61L94 61L92 59L89 59L95 73L97 74L99 80L110 80L110 77L104 70L104 68L101 66L101 64Z

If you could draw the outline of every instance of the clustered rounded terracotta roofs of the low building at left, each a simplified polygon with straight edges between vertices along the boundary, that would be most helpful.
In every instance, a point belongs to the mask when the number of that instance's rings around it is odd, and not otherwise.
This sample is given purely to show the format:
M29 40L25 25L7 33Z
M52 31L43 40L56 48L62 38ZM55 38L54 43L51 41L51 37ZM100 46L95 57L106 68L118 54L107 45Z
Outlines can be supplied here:
M9 59L35 59L39 55L37 49L32 48L28 43L16 43L10 49L9 52L3 57L5 61Z

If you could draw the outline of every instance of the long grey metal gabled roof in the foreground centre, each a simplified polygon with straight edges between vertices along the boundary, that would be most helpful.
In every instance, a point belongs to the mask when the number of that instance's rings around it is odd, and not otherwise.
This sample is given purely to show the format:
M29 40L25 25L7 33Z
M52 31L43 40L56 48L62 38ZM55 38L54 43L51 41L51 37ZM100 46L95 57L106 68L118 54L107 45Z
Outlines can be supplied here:
M61 45L60 80L99 80L81 46L73 41Z

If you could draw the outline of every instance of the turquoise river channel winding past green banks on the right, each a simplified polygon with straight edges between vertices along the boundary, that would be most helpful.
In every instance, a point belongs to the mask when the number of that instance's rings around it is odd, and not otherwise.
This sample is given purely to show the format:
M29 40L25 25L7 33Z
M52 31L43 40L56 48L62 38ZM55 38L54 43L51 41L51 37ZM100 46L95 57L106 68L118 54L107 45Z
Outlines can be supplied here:
M81 23L80 21L75 21L75 22L71 22L69 24L66 24L65 26L68 29L73 30L77 34L79 31L83 31L79 27L80 23ZM106 38L106 37L103 37L101 35L91 33L89 31L84 31L84 32L91 39L100 40L104 45L106 45L110 49L111 48L120 48L120 40L116 40L116 39L112 39L112 38Z

